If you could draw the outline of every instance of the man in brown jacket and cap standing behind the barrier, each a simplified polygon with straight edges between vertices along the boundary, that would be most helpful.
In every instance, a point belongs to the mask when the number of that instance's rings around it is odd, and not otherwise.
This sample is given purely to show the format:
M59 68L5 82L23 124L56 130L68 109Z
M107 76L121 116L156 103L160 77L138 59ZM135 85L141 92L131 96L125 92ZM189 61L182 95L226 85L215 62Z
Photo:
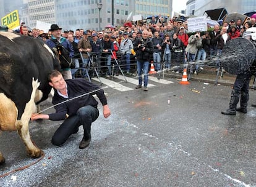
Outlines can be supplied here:
M88 32L84 31L83 32L83 38L79 41L77 48L79 49L79 52L82 52L82 58L83 58L83 64L82 64L82 76L84 78L85 76L85 67L87 66L89 56L88 52L92 51L92 46L90 44L90 40L88 39Z

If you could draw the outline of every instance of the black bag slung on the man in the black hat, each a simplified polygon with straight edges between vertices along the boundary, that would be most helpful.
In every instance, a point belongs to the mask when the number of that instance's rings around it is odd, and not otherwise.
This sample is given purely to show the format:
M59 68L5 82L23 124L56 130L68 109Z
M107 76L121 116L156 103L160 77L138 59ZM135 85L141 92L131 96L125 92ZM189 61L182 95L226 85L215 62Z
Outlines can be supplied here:
M60 42L56 39L52 39L52 41L56 44L56 49L59 53L59 61L61 62L61 68L70 68L72 65L72 58L69 57L69 50L67 50Z

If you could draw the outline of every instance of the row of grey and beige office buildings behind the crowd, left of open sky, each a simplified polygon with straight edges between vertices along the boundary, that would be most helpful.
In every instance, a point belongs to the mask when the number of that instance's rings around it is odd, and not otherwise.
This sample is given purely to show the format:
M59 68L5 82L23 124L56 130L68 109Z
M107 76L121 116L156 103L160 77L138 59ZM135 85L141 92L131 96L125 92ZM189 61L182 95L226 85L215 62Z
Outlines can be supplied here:
M57 23L64 30L77 28L104 30L106 25L121 26L127 17L151 15L169 17L173 10L173 0L17 0L22 2L19 7L20 20L36 27L36 21L49 24ZM97 4L102 4L99 11ZM2 16L14 9L12 1L0 0ZM15 5L17 6L17 5ZM10 9L10 11L9 11ZM132 18L132 17L131 17ZM100 28L101 27L101 28Z

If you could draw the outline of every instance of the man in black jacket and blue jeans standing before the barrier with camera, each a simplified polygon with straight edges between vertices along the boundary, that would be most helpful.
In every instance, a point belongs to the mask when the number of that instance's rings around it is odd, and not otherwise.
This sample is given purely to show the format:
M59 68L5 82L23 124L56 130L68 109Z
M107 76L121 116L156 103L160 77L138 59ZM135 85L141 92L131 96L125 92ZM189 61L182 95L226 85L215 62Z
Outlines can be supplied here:
M142 87L142 70L144 73L144 91L148 90L148 66L151 55L154 52L153 42L148 39L148 31L143 30L142 39L137 39L134 42L134 50L137 56L137 71L139 76L139 85L135 88Z

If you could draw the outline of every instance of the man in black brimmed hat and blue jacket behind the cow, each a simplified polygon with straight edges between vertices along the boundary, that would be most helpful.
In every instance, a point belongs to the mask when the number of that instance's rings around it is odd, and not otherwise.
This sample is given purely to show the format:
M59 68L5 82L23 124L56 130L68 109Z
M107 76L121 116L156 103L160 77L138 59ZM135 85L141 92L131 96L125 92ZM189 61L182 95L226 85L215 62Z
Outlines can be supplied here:
M59 28L58 25L53 24L51 25L51 28L49 31L51 31L51 38L46 40L46 44L50 48L58 48L57 46L61 44L63 47L65 47L69 51L69 57L74 57L74 50L72 45L69 43L69 41L66 38L61 37L61 30L62 28ZM72 79L70 68L62 68L61 73L64 79Z

